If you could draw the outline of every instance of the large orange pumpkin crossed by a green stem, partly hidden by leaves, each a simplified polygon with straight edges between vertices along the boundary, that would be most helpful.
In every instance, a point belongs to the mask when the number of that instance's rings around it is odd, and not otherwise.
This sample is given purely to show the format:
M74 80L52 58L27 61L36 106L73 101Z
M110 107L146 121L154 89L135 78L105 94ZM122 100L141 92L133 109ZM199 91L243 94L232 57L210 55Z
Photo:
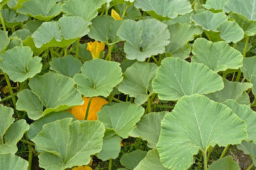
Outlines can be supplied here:
M74 115L74 117L76 117L77 120L84 120L90 97L83 97L83 100L83 105L75 106L68 110L72 115ZM102 106L107 103L108 101L101 97L92 97L87 120L97 120L97 112L100 111Z

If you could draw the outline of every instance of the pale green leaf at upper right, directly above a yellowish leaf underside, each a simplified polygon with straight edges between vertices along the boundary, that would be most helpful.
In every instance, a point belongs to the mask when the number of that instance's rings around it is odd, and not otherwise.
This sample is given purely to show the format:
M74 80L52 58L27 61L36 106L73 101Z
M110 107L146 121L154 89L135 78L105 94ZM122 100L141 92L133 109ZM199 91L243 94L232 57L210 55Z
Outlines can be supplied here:
M195 22L195 25L199 25L207 31L218 31L217 27L227 19L225 13L212 13L211 11L204 11L202 13L191 15L191 20Z

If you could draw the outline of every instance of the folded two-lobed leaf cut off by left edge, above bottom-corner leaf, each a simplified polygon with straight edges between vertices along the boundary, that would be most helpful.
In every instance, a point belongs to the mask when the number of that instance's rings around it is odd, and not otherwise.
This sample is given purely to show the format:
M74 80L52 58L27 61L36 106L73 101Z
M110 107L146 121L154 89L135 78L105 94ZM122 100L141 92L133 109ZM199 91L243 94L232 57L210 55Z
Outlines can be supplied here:
M12 115L12 108L0 104L0 155L3 153L16 153L18 150L17 142L29 129L26 120L22 119L14 122Z

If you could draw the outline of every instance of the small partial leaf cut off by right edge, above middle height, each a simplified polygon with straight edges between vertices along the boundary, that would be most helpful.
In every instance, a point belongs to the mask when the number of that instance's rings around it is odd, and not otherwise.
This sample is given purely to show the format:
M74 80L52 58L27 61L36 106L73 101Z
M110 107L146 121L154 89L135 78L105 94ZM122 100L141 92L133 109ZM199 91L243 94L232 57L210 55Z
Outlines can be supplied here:
M252 75L256 75L256 56L253 57L245 57L243 60L243 67L241 67L241 71L247 80L252 78Z

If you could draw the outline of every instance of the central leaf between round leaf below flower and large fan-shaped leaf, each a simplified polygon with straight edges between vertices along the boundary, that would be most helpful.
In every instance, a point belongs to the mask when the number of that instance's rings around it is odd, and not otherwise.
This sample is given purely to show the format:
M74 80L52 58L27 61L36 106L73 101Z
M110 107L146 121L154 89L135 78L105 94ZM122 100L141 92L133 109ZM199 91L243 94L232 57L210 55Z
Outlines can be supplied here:
M135 97L136 104L143 104L148 99L148 91L152 93L152 80L156 76L157 65L147 62L136 62L123 74L124 80L118 90L130 97Z

